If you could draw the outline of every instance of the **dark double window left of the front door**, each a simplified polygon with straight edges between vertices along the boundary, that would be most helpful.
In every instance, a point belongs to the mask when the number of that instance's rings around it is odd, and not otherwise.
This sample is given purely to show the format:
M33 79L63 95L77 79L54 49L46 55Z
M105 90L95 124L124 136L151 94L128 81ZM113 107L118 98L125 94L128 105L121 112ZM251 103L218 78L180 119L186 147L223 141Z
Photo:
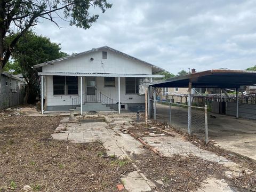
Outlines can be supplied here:
M78 94L78 78L75 76L53 76L53 94Z

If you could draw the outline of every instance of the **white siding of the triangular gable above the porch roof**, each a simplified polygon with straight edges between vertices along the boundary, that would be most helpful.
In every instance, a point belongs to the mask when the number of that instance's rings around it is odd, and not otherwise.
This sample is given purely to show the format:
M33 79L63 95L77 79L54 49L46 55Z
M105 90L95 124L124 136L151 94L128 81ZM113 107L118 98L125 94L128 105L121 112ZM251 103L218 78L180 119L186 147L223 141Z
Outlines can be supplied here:
M43 72L65 73L111 73L111 74L152 74L146 64L107 51L107 59L102 59L102 50L80 55L53 65L43 67ZM93 61L90 59L93 58Z

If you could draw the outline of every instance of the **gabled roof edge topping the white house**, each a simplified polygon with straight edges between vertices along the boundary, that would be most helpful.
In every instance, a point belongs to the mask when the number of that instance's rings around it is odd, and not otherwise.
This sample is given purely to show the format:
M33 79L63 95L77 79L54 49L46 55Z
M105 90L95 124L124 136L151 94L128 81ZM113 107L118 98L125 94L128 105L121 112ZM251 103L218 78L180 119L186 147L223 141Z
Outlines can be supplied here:
M126 58L130 58L130 59L133 59L135 61L142 62L145 65L148 65L148 66L152 67L153 74L165 71L163 68L157 67L157 66L152 65L152 64L150 64L150 63L148 63L146 61L142 61L142 60L140 60L138 58L132 57L131 55L128 55L128 54L123 53L121 51L115 50L115 49L113 49L113 48L111 48L109 46L102 46L102 47L99 47L99 48L91 49L89 51L85 51L85 52L69 55L67 57L55 59L55 60L52 60L52 61L43 62L43 63L37 64L37 65L34 65L32 68L37 69L37 68L41 68L41 67L46 66L46 65L53 65L53 63L55 63L55 62L60 62L60 61L63 61L63 60L67 60L67 59L71 59L71 58L74 58L74 57L78 57L79 55L84 55L84 54L96 52L96 51L99 51L99 50L110 50L110 51L113 51L114 53L117 53L119 55L123 55Z

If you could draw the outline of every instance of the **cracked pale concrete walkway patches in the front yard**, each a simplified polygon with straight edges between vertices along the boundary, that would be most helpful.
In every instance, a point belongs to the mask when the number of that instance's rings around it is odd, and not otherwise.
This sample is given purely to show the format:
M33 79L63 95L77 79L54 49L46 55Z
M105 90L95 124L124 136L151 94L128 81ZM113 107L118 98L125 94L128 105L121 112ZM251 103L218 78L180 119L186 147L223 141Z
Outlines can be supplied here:
M68 140L71 142L93 142L101 140L108 155L116 155L118 158L131 158L134 155L145 153L146 149L141 148L141 143L135 140L130 134L124 134L120 129L129 129L135 119L135 114L124 113L103 115L106 122L81 123L70 122L65 117L57 128L60 133L52 134L53 139ZM241 167L228 161L226 158L217 156L210 151L199 149L175 132L175 137L143 137L151 147L156 148L162 155L170 157L174 154L193 154L207 161L218 162L230 169L226 174L228 177L239 175ZM134 164L134 167L137 167ZM124 175L122 178L124 186L128 191L155 191L155 184L149 181L140 170ZM215 190L213 190L215 189ZM198 191L200 191L198 189ZM209 178L201 191L235 191L230 188L225 180Z

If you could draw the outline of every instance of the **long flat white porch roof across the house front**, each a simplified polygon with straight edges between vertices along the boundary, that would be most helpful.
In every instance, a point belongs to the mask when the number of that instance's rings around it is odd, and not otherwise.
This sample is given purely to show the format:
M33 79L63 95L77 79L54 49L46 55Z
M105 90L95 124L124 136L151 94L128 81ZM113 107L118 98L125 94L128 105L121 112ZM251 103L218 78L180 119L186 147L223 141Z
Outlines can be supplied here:
M109 73L63 73L63 72L38 72L38 75L46 76L80 76L80 77L153 77L162 78L164 75L151 75L151 74L109 74Z

